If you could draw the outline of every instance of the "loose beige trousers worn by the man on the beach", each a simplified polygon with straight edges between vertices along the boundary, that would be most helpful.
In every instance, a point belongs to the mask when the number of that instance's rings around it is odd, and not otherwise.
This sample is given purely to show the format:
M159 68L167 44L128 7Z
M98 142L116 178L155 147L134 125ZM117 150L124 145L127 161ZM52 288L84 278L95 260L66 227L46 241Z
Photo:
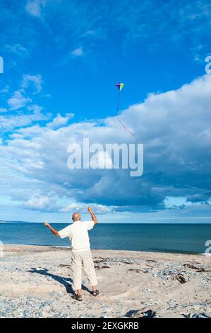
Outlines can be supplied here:
M73 285L75 290L81 289L82 264L91 286L97 286L94 262L90 249L80 252L72 252Z

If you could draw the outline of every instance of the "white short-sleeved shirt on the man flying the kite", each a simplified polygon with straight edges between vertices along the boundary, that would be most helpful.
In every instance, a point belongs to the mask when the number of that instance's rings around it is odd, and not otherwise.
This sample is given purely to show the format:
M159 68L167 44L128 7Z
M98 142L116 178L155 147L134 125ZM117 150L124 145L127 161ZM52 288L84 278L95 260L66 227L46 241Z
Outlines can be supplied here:
M88 230L94 227L93 221L76 221L59 231L61 238L69 237L73 252L85 251L90 249L90 239Z

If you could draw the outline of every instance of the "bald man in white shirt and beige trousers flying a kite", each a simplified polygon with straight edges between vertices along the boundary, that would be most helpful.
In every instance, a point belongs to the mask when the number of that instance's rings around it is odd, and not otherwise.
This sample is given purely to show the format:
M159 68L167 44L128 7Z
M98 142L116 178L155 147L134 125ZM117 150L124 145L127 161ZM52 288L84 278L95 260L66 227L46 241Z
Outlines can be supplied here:
M92 227L97 224L97 218L91 207L88 207L88 212L91 215L92 221L82 222L80 220L80 214L74 213L72 217L73 223L59 232L49 225L48 222L44 221L44 225L49 227L54 235L61 238L69 237L71 241L73 284L75 290L77 290L77 293L73 296L73 298L79 301L82 300L82 264L85 275L88 277L92 286L92 295L99 295L99 290L96 289L97 277L90 251L90 240L88 235L88 230L92 229Z

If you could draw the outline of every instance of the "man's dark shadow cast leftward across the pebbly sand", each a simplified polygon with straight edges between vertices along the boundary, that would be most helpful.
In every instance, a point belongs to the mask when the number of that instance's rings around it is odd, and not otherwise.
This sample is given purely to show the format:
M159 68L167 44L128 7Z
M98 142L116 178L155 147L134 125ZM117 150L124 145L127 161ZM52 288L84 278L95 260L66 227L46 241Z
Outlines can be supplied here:
M37 274L41 274L44 276L49 276L50 278L54 278L55 281L63 284L63 286L65 286L66 288L66 292L72 295L75 295L75 290L73 290L73 279L72 278L65 278L64 276L59 276L59 275L55 275L53 273L49 273L48 269L35 269L34 267L32 267L29 271L29 273L37 273ZM86 287L86 286L82 286L83 290L88 291L88 293L91 293L91 291Z

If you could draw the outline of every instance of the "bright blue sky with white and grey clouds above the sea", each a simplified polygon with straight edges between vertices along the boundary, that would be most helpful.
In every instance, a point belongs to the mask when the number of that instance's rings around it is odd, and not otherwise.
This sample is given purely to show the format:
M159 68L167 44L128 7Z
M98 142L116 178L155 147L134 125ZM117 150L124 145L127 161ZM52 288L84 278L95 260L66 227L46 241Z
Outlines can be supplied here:
M0 220L211 222L210 1L0 4ZM133 142L119 80L143 176L70 171L73 140Z

